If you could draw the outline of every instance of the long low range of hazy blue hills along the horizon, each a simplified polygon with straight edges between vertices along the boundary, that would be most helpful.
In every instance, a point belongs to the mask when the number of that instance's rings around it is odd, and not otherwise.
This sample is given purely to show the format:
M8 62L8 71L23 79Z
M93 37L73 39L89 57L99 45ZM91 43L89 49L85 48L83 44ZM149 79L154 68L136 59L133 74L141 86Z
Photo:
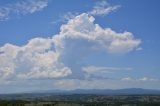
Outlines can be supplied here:
M160 95L160 90L127 88L127 89L76 89L76 90L37 90L25 93L53 94L95 94L95 95Z

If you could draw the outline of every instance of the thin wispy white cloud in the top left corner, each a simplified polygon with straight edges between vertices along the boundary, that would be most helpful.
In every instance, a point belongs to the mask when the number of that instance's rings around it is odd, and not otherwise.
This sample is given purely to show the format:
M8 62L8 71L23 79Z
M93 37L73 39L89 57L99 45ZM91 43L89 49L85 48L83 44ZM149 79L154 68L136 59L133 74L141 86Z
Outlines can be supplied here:
M5 21L11 15L26 15L41 11L48 6L48 0L22 0L0 7L0 21Z

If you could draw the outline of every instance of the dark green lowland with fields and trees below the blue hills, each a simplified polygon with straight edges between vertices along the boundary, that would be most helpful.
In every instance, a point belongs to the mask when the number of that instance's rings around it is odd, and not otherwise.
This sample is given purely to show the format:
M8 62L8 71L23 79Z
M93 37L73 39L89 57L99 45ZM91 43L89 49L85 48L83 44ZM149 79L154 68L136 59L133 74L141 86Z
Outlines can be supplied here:
M160 106L160 96L14 94L0 95L0 106Z

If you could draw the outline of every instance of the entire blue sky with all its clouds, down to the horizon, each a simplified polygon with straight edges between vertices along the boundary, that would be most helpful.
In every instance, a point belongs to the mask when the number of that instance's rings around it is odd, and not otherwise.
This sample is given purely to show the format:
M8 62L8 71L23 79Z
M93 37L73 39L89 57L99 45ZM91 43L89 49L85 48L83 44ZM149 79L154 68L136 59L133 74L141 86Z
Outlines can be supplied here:
M0 0L0 93L160 90L159 4Z

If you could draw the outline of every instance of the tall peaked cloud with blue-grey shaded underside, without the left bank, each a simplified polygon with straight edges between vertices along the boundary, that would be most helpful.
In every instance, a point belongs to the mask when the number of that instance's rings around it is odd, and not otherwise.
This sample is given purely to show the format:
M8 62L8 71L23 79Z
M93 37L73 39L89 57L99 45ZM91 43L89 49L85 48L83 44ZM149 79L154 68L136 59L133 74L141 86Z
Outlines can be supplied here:
M97 52L124 54L136 50L141 43L131 32L117 33L102 28L94 20L93 16L82 13L62 25L59 34L53 36L60 60L76 78L84 77L81 64L87 56Z

